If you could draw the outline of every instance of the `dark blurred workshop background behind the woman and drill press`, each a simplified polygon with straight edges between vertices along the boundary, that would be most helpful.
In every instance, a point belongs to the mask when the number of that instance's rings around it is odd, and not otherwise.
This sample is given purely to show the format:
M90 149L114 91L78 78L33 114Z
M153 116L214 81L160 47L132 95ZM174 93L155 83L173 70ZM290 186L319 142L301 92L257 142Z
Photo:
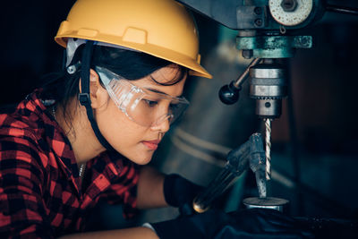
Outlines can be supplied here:
M358 7L355 0L330 2ZM54 37L72 4L69 0L2 3L1 105L19 102L38 85L41 76L61 69L64 49ZM178 141L183 136L179 132L232 149L252 132L261 131L262 124L254 115L247 87L235 106L218 101L219 88L240 75L248 62L234 50L233 31L195 16L203 64L214 79L188 81L186 94L192 108L168 133L152 165L165 173L180 173L198 184L208 184L225 158L225 149L218 153L205 147L188 148L191 143L187 139ZM301 33L313 36L314 47L298 50L288 63L291 94L284 100L283 115L273 122L272 167L278 176L273 176L269 193L290 200L294 216L355 218L358 17L327 13L322 21ZM210 157L217 158L218 163L201 160ZM250 172L238 182L221 201L223 208L242 208L243 198L256 195ZM98 211L102 217L99 228L118 226L106 223L106 218L111 220L113 216L108 212L113 214L113 208L104 206ZM159 220L168 215L175 214L149 211L141 215L141 220Z

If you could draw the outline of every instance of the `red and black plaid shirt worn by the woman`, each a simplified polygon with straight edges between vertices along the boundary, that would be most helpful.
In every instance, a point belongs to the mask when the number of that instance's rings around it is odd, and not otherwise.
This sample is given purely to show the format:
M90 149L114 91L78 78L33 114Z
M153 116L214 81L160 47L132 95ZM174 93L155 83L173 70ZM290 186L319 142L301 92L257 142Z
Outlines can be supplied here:
M115 152L87 163L81 182L71 144L36 90L0 115L0 238L53 238L84 230L99 200L136 206L138 167Z

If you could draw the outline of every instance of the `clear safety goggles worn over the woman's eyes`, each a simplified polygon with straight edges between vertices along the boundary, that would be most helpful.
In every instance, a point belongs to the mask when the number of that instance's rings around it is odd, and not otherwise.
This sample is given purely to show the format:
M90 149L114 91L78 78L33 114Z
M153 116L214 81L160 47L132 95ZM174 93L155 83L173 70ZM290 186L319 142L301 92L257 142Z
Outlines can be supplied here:
M189 106L183 97L141 88L103 67L96 66L95 69L115 105L142 126L155 126L164 121L172 124Z

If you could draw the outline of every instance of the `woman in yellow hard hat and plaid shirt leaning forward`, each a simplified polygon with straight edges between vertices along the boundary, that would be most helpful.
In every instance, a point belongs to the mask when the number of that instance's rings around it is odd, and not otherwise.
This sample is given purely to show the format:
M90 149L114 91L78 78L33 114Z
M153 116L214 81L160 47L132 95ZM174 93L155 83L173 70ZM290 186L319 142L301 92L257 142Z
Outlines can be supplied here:
M210 75L192 17L173 0L78 0L55 41L64 71L0 115L0 237L206 237L232 224L212 210L71 235L100 200L124 204L127 218L192 201L198 186L143 165L187 107L187 77Z

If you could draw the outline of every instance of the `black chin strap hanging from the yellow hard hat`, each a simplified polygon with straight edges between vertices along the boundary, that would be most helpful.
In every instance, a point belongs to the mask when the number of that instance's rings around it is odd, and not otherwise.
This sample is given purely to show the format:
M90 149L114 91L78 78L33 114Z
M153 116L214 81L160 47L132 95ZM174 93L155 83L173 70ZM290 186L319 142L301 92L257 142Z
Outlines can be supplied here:
M94 41L87 41L83 49L82 63L81 63L81 93L79 94L79 101L83 107L86 107L87 117L89 118L90 125L93 132L95 132L98 141L107 150L114 150L107 142L105 137L98 129L98 124L93 116L93 109L90 107L90 59L92 57Z

